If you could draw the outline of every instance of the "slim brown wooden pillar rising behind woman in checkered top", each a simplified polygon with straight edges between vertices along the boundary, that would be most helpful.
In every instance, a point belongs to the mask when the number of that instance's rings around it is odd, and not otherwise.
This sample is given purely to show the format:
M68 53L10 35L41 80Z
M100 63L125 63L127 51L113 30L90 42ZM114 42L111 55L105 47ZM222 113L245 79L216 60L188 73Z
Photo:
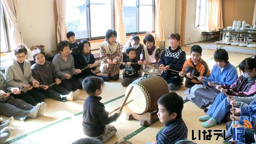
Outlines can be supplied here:
M186 4L187 4L187 0L182 0L181 22L180 22L180 46L185 46Z

